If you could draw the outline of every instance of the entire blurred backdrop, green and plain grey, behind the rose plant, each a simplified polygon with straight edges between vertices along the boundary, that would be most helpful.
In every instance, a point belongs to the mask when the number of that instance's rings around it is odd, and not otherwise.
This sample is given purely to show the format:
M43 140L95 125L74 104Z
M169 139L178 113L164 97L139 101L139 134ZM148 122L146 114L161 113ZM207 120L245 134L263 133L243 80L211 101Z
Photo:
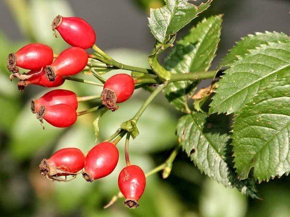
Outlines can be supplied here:
M28 86L24 92L19 92L17 82L9 81L7 54L31 42L48 44L55 53L60 53L68 46L61 37L53 36L50 24L61 14L86 19L96 30L97 45L118 61L148 67L146 56L154 44L147 27L148 11L149 7L162 4L162 0L0 1L1 217L290 217L288 177L259 184L263 200L253 200L200 174L184 153L177 156L169 178L162 180L161 174L148 178L137 209L125 208L123 199L119 199L104 210L102 207L118 193L118 173L125 166L124 140L118 145L120 161L117 168L106 178L87 183L77 177L68 183L56 183L39 174L39 162L54 151L78 147L86 152L95 144L94 113L79 117L68 129L53 128L45 123L46 129L42 130L30 112L30 101L48 89ZM265 30L289 33L289 9L289 0L214 0L199 18L225 14L213 68L240 37ZM180 35L188 29L186 27ZM80 77L93 80L86 75ZM206 82L201 84L204 85ZM101 91L96 86L73 81L66 81L61 88L73 90L78 96L96 95ZM110 136L121 122L131 118L148 95L137 90L119 110L107 112L100 122L98 141ZM91 107L94 102L81 103L79 110ZM177 143L175 125L179 116L181 114L159 96L138 122L140 136L130 143L131 162L140 165L145 172L163 163Z

